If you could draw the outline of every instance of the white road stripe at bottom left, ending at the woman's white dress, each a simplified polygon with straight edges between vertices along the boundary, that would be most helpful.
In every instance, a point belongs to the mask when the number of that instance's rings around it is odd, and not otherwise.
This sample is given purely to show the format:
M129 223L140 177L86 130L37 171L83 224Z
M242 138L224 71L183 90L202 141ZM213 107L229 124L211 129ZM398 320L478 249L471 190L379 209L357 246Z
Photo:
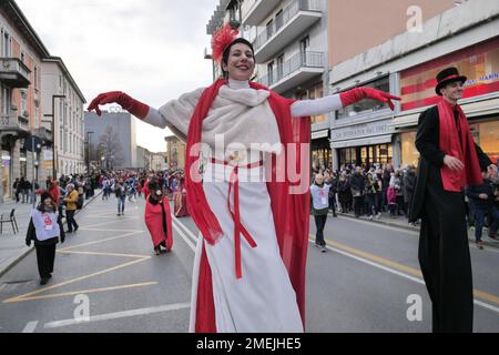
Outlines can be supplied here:
M172 311L189 310L189 308L191 308L191 303L176 303L176 304L170 304L170 305L164 305L164 306L159 306L159 307L149 307L149 308L140 308L140 310L94 315L94 316L91 316L89 321L65 320L65 321L51 322L51 323L44 324L43 327L49 328L49 329L50 328L59 328L59 327L64 327L64 326L69 326L69 325L80 325L80 324L88 324L91 322L119 320L119 318L125 318L125 317L134 317L134 316L139 316L139 315L147 315L147 314L154 314L154 313L172 312Z

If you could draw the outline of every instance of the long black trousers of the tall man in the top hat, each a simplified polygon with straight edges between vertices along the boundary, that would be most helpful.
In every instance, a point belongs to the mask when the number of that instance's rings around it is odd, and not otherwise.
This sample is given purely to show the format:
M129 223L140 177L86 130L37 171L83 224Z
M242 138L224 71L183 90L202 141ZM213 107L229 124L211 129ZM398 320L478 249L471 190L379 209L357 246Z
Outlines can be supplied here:
M419 237L419 264L432 303L434 333L471 333L473 292L465 195L444 191L430 168Z

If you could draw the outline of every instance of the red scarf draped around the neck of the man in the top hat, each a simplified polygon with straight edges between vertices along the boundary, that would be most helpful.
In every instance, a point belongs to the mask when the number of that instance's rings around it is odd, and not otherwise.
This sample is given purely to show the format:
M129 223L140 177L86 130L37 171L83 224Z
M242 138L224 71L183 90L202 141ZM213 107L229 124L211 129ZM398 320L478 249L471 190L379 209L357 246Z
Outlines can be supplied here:
M457 124L454 109L459 114ZM444 190L461 192L467 185L481 184L483 179L465 112L460 106L452 108L442 99L438 104L438 115L440 119L440 151L459 159L465 164L464 171L452 171L446 165L441 166Z

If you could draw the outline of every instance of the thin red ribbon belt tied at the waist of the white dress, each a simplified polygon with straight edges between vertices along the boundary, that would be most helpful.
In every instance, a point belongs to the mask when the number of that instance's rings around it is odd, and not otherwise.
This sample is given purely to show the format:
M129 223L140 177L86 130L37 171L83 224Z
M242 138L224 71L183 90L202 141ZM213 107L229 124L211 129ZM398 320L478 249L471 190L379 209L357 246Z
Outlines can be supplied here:
M220 165L231 165L228 162L220 161L216 159L212 159L212 163ZM254 169L263 165L263 161L251 163L243 169ZM228 179L228 195L227 195L227 207L228 212L231 212L232 220L234 221L234 253L235 253L235 271L236 277L243 277L243 267L241 264L241 233L243 233L246 242L252 246L256 247L256 242L246 231L244 225L241 223L241 212L240 212L240 179L238 179L240 166L235 165L234 170L231 173L231 178ZM234 189L234 211L231 209L231 192Z

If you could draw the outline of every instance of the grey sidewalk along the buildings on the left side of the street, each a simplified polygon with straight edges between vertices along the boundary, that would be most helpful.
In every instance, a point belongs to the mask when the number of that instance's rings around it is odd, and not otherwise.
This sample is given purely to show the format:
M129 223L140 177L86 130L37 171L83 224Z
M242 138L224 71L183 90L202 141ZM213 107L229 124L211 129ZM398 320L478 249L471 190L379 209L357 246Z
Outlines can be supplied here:
M101 190L95 190L95 195L85 200L83 209L100 194ZM3 223L3 233L0 234L0 277L34 250L33 244L31 247L26 245L26 233L32 206L30 203L16 203L14 201L6 201L0 204L0 213L4 216L8 216L10 211L16 209L16 221L19 226L19 233L14 234L12 225ZM65 219L62 219L62 221L65 222Z

